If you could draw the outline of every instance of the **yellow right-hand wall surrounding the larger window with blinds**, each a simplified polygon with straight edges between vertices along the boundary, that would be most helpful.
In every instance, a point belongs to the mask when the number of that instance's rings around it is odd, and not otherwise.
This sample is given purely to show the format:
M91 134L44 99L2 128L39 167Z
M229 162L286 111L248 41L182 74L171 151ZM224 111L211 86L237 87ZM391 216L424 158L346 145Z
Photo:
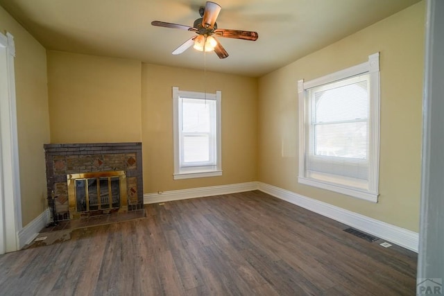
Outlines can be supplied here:
M259 79L259 181L418 232L424 1ZM380 52L379 202L298 184L297 81Z

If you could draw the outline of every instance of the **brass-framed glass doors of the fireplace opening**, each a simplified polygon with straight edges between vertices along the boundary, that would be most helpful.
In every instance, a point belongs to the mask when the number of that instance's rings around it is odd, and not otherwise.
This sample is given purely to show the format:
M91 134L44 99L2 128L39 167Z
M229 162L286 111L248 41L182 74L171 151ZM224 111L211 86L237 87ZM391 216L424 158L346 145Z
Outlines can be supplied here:
M127 211L124 171L67 175L69 218Z

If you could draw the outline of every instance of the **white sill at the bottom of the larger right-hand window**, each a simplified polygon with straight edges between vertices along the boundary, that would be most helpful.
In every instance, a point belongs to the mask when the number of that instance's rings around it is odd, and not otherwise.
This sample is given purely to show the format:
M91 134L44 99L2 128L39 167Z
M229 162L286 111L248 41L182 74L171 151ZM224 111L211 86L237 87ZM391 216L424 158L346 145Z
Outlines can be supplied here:
M309 186L318 187L321 189L326 189L330 191L334 191L337 193L342 193L345 195L350 195L354 198L359 198L361 200L367 200L369 202L377 202L378 193L371 193L368 191L363 191L361 189L355 189L353 187L339 185L339 184L332 184L329 182L323 182L307 177L298 177L298 182L300 184L305 184Z

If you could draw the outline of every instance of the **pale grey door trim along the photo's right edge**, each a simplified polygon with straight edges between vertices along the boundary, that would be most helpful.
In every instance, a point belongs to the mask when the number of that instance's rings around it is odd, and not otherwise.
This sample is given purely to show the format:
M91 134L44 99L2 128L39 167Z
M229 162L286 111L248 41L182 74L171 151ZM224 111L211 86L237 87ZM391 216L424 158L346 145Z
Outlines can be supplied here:
M418 289L425 279L444 280L444 1L426 3Z

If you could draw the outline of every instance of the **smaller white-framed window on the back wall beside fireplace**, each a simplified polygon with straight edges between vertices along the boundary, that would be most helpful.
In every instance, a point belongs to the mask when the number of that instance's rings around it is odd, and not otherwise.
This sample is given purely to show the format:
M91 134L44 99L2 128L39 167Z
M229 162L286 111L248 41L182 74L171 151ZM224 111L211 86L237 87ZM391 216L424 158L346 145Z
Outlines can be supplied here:
M222 175L221 92L173 87L174 179Z

